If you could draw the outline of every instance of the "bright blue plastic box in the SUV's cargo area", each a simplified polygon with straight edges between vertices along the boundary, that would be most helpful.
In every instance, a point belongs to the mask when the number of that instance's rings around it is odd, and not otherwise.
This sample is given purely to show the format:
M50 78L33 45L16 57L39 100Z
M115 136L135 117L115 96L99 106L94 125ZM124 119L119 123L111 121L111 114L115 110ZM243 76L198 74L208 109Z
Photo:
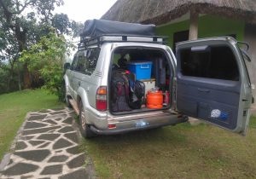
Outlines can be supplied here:
M127 67L137 80L151 78L152 61L132 61L127 63Z

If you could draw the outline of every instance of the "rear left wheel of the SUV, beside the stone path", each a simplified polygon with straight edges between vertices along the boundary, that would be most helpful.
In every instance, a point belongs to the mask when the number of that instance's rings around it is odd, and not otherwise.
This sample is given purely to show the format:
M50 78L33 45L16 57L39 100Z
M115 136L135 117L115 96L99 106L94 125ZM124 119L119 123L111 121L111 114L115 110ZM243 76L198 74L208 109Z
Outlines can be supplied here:
M96 136L96 134L90 130L90 126L88 124L86 124L85 118L86 118L86 115L84 113L83 103L82 103L82 101L80 101L80 103L79 103L79 130L80 130L82 136L84 136L84 138L88 139L90 137Z

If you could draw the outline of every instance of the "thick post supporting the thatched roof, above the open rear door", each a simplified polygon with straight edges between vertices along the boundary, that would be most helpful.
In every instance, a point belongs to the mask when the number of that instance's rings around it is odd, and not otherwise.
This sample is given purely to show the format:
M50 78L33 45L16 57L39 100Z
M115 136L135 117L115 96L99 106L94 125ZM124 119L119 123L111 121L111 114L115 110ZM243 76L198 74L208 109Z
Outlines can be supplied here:
M190 10L189 40L198 38L198 13Z

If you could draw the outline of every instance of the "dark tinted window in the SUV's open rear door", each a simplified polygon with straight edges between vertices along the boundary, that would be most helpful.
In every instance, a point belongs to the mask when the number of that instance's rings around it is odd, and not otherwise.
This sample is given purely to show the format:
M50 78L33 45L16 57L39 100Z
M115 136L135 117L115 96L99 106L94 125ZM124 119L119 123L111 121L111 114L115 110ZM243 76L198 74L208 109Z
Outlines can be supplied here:
M184 76L239 81L236 57L228 46L182 49L180 59Z

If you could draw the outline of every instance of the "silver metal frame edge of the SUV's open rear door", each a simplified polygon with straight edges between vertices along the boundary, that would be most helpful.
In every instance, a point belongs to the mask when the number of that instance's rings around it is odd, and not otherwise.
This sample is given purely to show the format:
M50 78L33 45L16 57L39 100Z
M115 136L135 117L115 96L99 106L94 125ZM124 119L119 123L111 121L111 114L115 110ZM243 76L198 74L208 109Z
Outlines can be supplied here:
M237 62L239 73L240 73L240 80L239 80L240 82L240 90L239 90L240 98L239 99L240 100L239 100L238 114L236 118L237 119L236 129L232 129L231 131L245 136L247 133L247 125L250 118L249 108L251 106L253 95L252 95L252 89L249 83L249 78L247 77L246 66L245 66L243 57L241 55L241 51L236 43L236 40L230 37L203 38L198 40L181 42L181 43L177 43L177 50L191 48L193 46L204 46L204 45L228 46L230 47L230 49L232 50L233 54L236 57L236 62ZM219 65L221 66L222 64L219 64ZM207 79L207 80L209 82L212 81L213 83L217 81L215 79ZM226 86L227 85L223 85L223 88L225 88ZM218 98L216 97L215 100L218 101ZM244 115L244 113L246 113L246 115ZM201 119L204 119L204 118L201 118ZM207 121L207 123L214 124L209 121ZM214 125L217 125L218 127L224 128L226 130L230 130L220 124L214 124Z

